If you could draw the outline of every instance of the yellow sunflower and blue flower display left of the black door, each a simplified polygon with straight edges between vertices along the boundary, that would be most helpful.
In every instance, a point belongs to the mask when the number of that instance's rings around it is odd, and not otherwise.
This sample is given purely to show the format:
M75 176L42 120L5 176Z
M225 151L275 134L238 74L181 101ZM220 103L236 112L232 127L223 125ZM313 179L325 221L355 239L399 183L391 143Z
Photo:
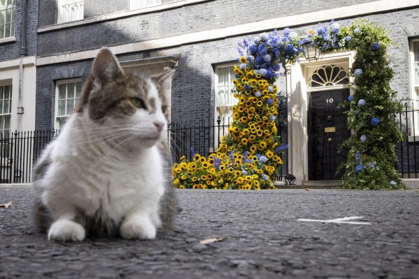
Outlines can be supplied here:
M274 188L274 177L279 176L284 163L280 155L288 148L281 146L277 135L278 89L274 82L281 68L279 61L295 63L302 54L301 45L297 34L277 36L276 31L239 44L240 66L235 66L233 80L233 96L238 102L232 108L228 135L209 158L191 148L193 162L182 157L181 163L174 165L175 188Z

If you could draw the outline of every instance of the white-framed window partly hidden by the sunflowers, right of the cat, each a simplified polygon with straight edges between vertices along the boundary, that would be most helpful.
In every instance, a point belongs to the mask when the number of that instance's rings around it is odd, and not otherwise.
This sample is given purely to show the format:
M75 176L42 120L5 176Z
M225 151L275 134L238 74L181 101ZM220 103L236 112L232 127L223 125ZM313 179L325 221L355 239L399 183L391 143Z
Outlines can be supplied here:
M217 68L216 76L215 120L220 117L221 125L223 125L223 123L228 124L229 121L233 120L232 107L238 102L232 92L232 89L235 88L233 84L233 80L235 79L234 66Z

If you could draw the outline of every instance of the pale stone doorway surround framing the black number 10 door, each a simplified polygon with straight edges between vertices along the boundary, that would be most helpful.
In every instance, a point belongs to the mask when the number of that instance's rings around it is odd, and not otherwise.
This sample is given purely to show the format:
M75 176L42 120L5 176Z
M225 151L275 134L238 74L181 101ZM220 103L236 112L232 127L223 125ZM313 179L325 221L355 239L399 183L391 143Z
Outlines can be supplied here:
M309 89L307 82L311 74L326 65L337 65L349 70L353 63L355 52L339 51L331 54L321 54L318 61L300 59L294 66L286 66L286 91L288 100L288 172L295 176L295 184L302 185L308 179L308 131L307 112L309 93L330 89L348 88L348 85L316 87ZM353 92L351 91L351 95Z

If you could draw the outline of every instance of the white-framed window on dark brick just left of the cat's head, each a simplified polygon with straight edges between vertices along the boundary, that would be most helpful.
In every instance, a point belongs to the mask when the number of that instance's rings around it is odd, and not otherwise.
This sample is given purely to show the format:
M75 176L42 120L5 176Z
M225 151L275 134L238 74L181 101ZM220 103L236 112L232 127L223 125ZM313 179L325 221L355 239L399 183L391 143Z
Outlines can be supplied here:
M82 82L78 80L62 80L57 82L56 93L56 128L61 130L67 123L68 116L73 112L80 93Z

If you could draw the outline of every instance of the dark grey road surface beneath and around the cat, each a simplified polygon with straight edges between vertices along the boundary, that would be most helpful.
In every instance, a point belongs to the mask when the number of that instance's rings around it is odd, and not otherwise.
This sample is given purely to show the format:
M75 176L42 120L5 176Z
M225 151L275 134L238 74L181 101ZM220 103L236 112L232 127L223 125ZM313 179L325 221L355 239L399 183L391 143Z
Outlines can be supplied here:
M55 243L34 232L31 189L0 188L0 278L419 278L414 191L177 194L177 225L153 241ZM345 216L371 225L297 221Z

